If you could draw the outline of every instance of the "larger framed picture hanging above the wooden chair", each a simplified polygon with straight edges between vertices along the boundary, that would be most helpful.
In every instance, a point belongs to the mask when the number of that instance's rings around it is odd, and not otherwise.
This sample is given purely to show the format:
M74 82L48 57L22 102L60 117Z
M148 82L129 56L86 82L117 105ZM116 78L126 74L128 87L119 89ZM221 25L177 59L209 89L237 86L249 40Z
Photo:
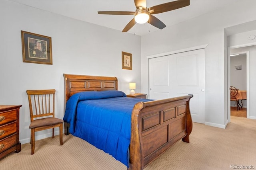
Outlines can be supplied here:
M21 31L22 57L25 63L52 64L52 38Z

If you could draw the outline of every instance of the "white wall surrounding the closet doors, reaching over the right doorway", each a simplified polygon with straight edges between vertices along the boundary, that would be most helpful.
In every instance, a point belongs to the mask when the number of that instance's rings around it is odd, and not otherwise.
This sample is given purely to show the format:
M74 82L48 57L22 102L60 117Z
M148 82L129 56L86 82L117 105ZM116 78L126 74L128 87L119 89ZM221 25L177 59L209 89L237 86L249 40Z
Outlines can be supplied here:
M142 92L148 93L149 90L147 56L208 44L205 48L205 124L225 128L228 119L224 28L256 20L255 6L255 0L243 0L142 36Z

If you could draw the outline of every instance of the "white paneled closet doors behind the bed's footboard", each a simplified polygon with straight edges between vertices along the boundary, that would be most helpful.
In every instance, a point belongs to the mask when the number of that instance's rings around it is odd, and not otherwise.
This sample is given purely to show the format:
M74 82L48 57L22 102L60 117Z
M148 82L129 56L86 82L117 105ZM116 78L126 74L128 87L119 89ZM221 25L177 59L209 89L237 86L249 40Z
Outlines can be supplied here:
M205 121L204 49L149 59L149 98L165 99L193 94L192 120Z

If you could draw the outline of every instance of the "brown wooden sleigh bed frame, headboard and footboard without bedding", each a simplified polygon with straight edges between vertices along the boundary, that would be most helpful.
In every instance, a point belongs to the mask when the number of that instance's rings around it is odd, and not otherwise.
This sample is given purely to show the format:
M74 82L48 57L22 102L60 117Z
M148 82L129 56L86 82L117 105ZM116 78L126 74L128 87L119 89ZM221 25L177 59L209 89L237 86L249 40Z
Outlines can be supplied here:
M75 93L118 90L116 77L63 74L64 107ZM193 95L138 102L132 110L129 170L142 170L172 145L189 143L192 119L189 101ZM65 108L64 108L65 110ZM64 123L65 135L69 124Z

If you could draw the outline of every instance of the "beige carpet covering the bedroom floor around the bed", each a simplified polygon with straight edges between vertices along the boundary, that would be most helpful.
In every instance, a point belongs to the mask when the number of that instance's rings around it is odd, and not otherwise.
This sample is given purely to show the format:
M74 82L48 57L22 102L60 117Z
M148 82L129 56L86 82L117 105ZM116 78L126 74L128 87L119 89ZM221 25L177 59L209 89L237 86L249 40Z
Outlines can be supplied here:
M125 170L112 156L72 135L36 141L0 160L1 170ZM226 129L193 124L190 143L179 141L145 170L229 170L230 165L256 168L256 120L231 117Z

